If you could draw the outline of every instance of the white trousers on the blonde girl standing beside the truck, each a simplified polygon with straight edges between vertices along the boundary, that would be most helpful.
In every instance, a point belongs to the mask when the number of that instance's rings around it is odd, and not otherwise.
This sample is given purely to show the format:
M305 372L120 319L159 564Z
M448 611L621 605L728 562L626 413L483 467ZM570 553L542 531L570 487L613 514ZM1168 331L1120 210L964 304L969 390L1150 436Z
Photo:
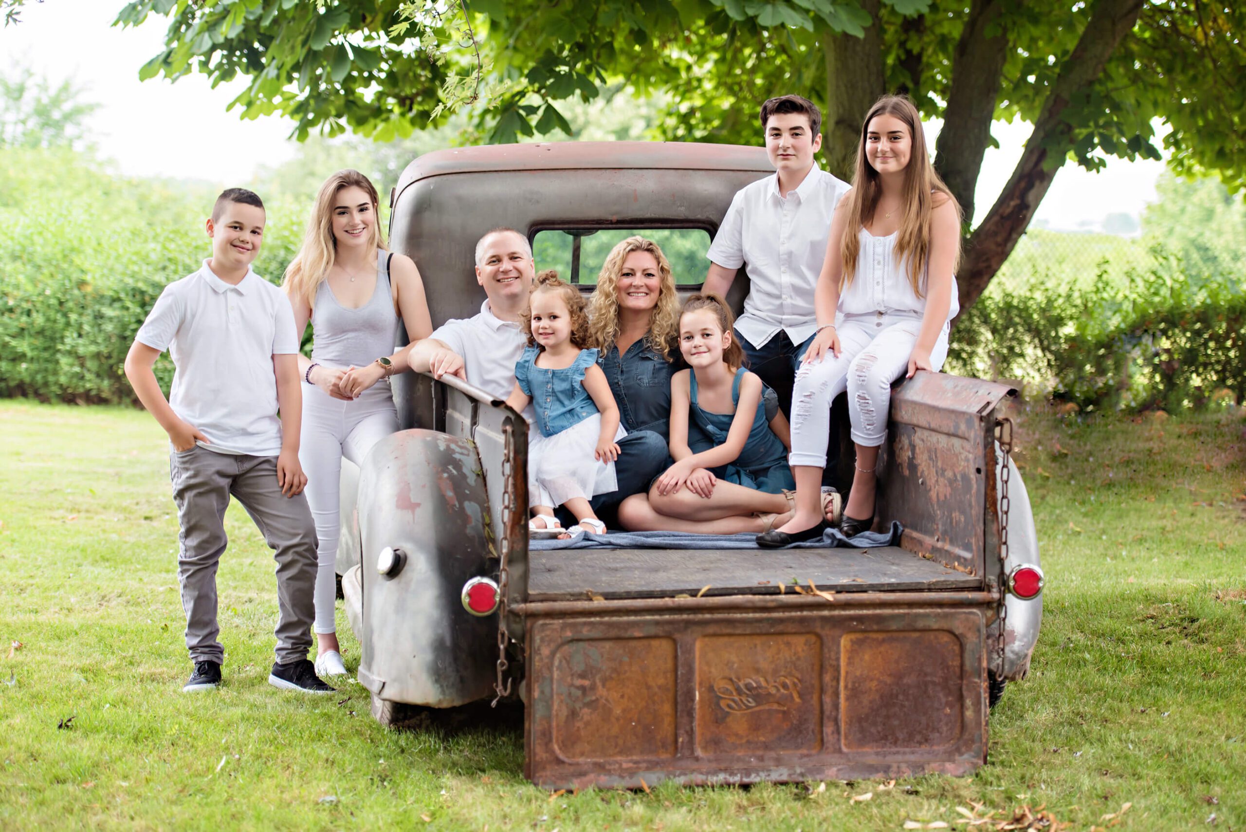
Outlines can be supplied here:
M374 445L397 431L397 410L390 386L384 381L365 390L354 401L334 399L312 385L303 385L303 431L299 463L308 477L305 493L315 519L316 634L336 631L334 603L338 597L334 564L341 532L341 457L360 465Z

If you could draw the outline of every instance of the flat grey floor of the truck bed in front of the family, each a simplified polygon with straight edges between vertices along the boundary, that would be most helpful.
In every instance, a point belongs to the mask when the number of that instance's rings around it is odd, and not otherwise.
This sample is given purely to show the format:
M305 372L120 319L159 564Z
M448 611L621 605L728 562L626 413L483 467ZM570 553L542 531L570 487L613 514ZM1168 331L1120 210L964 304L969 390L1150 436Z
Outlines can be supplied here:
M530 552L528 600L976 589L982 578L898 546L875 549L552 549ZM708 587L708 589L705 589Z

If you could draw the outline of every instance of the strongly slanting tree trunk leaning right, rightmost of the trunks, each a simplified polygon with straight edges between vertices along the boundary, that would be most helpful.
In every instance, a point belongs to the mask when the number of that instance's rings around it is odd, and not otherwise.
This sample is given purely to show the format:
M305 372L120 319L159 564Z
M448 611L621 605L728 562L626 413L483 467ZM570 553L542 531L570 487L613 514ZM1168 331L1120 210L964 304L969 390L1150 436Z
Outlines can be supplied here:
M957 272L962 311L973 305L1008 259L1073 148L1073 126L1062 118L1064 110L1074 96L1098 80L1141 10L1143 0L1099 0L1095 4L1077 47L1047 96L1012 178L968 239Z

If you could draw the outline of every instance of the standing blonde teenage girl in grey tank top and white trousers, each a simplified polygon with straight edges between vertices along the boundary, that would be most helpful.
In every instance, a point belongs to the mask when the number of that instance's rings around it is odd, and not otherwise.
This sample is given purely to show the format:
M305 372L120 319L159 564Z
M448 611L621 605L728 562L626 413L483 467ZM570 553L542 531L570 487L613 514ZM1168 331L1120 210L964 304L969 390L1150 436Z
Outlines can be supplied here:
M319 541L313 630L320 676L346 673L334 623L341 457L358 465L397 430L388 381L407 369L406 352L395 351L399 325L412 343L432 333L420 273L411 258L385 249L376 209L376 188L363 173L329 177L283 284L298 333L309 320L313 331L312 357L299 355L307 382L299 462Z

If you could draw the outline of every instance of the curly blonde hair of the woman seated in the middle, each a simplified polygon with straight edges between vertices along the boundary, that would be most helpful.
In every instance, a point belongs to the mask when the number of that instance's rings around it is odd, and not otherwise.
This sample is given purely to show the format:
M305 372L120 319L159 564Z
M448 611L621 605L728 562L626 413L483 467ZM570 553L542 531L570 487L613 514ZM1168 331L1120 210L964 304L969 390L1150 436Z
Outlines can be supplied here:
M675 278L670 273L670 263L662 253L662 247L644 237L628 237L611 249L602 270L597 275L597 289L588 300L589 341L599 350L614 346L619 338L619 275L623 273L623 260L632 252L648 252L658 262L658 303L649 316L649 333L645 341L649 346L670 361L674 346L679 340L679 295L675 291Z

